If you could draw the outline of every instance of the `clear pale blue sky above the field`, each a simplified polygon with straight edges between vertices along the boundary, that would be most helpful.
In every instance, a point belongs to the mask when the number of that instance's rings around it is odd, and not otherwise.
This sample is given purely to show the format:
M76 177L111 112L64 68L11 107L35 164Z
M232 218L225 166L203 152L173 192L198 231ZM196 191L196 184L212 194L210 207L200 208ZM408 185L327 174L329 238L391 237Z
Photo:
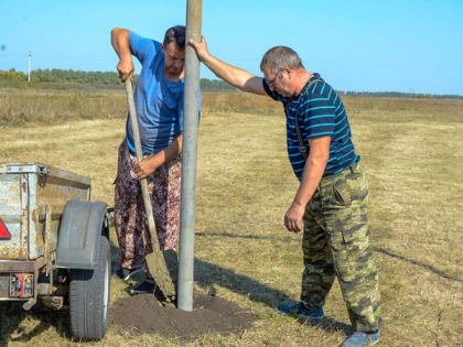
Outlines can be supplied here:
M31 52L32 69L116 71L112 28L162 41L185 15L186 0L0 0L0 69L26 72ZM202 31L256 75L281 44L335 89L463 95L463 0L204 0Z

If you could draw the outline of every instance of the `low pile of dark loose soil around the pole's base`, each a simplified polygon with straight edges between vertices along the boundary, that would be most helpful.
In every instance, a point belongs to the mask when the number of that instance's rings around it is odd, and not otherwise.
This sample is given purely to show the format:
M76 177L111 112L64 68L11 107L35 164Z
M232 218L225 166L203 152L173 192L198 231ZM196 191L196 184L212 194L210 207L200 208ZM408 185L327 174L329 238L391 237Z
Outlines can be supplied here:
M153 294L134 295L111 303L110 321L122 327L121 334L139 332L183 340L206 333L244 332L255 321L249 310L218 296L195 293L193 303L193 312L185 312L161 306Z

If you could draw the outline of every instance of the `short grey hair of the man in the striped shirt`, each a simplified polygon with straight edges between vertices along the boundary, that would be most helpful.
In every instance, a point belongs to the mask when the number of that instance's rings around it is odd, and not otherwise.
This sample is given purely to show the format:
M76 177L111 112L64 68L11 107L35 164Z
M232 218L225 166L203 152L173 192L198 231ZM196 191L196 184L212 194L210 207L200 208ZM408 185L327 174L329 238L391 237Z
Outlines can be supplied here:
M300 68L304 66L298 53L293 50L287 46L274 46L263 54L260 71L263 72L263 67L269 68L276 75L282 72L284 67Z

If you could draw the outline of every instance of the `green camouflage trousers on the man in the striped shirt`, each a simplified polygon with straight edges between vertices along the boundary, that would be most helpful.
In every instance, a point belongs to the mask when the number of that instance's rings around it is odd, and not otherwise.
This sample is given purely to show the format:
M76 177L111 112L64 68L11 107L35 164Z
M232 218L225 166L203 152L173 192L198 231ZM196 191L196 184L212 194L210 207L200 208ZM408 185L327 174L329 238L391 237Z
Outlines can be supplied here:
M368 183L359 164L323 177L304 215L301 301L323 306L335 276L354 330L378 329L378 272L368 229Z

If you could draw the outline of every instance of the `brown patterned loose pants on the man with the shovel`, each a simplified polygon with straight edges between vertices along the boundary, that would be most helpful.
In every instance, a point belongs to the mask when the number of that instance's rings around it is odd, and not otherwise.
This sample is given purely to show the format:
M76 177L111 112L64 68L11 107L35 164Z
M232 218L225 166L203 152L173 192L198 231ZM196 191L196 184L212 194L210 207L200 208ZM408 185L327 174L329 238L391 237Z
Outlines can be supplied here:
M122 256L121 265L126 269L143 267L144 254L152 252L141 185L133 171L137 163L137 156L129 151L123 140L119 147L115 181L115 228ZM181 174L182 161L177 158L159 166L148 176L154 224L162 250L176 249L179 241ZM146 245L141 232L144 232Z

